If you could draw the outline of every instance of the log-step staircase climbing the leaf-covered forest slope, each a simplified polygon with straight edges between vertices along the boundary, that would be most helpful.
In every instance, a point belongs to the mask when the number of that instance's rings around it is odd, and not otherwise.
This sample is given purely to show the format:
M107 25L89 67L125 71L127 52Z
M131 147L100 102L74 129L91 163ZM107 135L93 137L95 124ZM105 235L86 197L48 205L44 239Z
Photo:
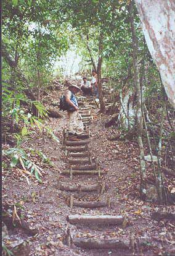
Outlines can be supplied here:
M69 135L63 130L63 150L65 151L65 162L67 168L62 171L64 176L70 178L70 182L59 183L59 190L69 192L67 205L74 208L104 208L110 207L110 197L102 197L107 191L107 187L102 177L104 171L100 168L98 159L92 158L89 145L91 143L91 123L92 109L97 108L94 105L94 98L91 96L86 100L80 101L79 113L84 124L84 132L81 135ZM76 177L76 179L75 179ZM96 193L93 200L91 194ZM91 200L89 200L89 198ZM105 199L102 199L105 198ZM67 221L71 225L126 225L126 219L121 215L68 215ZM129 249L129 241L121 239L92 239L84 237L71 237L70 228L67 229L67 245L75 245L85 249Z

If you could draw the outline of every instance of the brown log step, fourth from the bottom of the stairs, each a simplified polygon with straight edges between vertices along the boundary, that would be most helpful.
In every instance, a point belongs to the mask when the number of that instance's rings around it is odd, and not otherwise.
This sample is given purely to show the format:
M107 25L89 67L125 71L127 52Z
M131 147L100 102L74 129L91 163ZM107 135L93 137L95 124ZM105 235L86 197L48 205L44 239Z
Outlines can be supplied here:
M58 186L59 190L66 190L66 191L81 191L81 192L91 192L91 191L99 191L100 190L100 184L77 184L77 185L68 185L68 184L59 184Z

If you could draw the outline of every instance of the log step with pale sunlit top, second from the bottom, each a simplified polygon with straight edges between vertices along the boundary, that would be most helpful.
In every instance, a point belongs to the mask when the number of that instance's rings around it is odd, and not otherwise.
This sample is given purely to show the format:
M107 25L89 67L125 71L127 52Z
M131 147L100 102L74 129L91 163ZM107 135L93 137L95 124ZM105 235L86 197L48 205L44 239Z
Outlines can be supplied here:
M68 215L67 221L71 224L123 224L124 218L121 215Z

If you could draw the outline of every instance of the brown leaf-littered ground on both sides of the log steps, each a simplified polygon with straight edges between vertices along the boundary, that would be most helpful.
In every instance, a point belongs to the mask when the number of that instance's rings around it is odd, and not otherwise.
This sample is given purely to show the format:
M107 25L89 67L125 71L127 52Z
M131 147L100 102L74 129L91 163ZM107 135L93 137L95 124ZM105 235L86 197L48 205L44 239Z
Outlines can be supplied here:
M55 93L50 93L50 100L59 100ZM49 101L48 101L49 103ZM155 210L173 212L172 205L157 205L156 203L144 202L139 198L137 184L139 184L139 152L137 142L132 140L110 141L108 137L118 132L114 127L104 128L107 115L99 114L98 109L93 111L94 119L89 126L92 132L89 149L92 155L99 158L100 168L105 171L102 179L107 185L107 192L103 197L111 198L111 207L99 209L75 208L70 209L66 200L68 193L57 189L57 182L68 182L69 178L62 176L61 171L66 168L64 151L62 149L62 130L67 123L67 114L62 118L50 118L47 121L54 134L60 139L55 142L38 129L33 129L30 139L23 142L23 148L41 150L54 164L43 163L33 156L33 160L43 170L43 182L40 184L35 179L30 179L30 185L15 168L2 173L2 204L17 205L22 210L23 220L30 224L31 228L38 229L38 234L29 236L23 229L13 228L9 230L6 244L12 245L17 241L26 241L25 249L20 249L15 255L82 255L82 256L105 256L105 255L174 255L175 254L175 224L168 220L153 220L152 212ZM4 148L9 148L4 145ZM6 164L9 162L4 159ZM76 181L73 179L73 182ZM91 178L89 178L90 180ZM91 193L90 200L96 195ZM69 214L110 214L124 215L128 218L128 225L124 226L73 226L68 224L66 217ZM123 239L144 240L142 248L136 252L127 250L96 250L79 249L74 245L67 247L64 244L67 227L71 229L73 237L116 237ZM17 242L20 244L20 242Z

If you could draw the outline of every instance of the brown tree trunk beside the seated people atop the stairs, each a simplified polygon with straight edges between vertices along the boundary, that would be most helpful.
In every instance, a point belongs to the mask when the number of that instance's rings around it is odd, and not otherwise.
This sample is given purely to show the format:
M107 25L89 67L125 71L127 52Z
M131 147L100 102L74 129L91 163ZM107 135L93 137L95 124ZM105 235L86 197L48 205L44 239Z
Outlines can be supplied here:
M102 51L103 51L103 35L100 33L99 38L99 60L97 66L97 79L98 79L98 90L99 90L99 101L100 101L100 112L105 113L105 103L102 94Z

